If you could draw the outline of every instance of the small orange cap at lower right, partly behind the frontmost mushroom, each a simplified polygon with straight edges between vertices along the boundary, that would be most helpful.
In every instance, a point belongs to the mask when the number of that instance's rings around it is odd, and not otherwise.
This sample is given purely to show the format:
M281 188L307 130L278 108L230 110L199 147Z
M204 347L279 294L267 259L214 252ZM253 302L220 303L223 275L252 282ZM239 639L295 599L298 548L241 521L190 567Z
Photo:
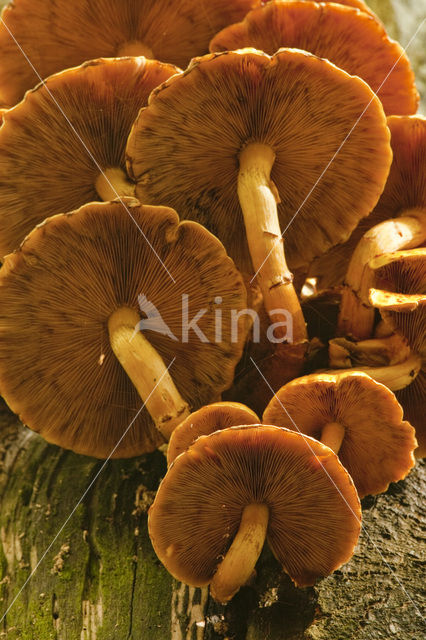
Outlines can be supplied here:
M384 385L359 371L312 374L282 387L263 414L264 422L320 439L323 427L345 429L339 458L360 498L386 491L414 466L414 429Z

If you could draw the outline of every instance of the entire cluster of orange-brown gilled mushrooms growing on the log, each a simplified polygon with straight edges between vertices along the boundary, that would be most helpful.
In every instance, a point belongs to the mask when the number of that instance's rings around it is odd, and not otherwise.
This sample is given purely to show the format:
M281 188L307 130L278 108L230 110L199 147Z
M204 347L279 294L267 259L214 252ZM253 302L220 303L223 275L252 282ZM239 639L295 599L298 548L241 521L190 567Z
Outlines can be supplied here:
M152 543L220 602L265 541L347 562L425 455L418 102L362 0L2 12L0 393L79 454L168 443Z

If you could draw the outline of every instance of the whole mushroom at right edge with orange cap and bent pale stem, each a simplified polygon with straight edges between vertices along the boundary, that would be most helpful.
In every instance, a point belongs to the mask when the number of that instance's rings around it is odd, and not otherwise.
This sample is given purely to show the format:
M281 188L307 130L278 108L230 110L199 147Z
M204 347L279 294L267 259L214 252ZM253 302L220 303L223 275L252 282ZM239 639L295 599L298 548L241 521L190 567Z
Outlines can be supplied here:
M374 309L368 301L373 285L365 277L368 262L426 241L426 118L391 116L388 127L393 161L377 205L346 242L314 260L310 267L320 288L345 281L339 333L356 339L369 338L373 331Z

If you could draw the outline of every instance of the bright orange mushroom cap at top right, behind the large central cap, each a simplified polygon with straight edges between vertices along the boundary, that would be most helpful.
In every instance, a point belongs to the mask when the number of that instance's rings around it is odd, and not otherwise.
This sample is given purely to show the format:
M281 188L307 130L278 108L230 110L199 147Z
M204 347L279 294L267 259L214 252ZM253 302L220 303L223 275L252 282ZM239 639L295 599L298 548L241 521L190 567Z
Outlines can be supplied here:
M242 22L225 27L210 51L255 47L272 55L295 47L327 58L367 82L387 115L417 111L419 94L404 49L383 25L352 7L317 2L272 0L250 11Z

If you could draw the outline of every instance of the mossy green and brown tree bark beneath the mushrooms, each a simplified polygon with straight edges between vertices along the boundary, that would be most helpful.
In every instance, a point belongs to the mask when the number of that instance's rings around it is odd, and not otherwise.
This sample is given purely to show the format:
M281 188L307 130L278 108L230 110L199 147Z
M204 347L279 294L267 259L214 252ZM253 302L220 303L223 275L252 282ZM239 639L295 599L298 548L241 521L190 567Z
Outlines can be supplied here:
M166 471L162 453L103 463L45 443L6 409L0 419L0 637L422 636L425 465L364 500L360 543L340 571L297 589L265 549L252 584L222 606L172 580L151 548L146 512Z

